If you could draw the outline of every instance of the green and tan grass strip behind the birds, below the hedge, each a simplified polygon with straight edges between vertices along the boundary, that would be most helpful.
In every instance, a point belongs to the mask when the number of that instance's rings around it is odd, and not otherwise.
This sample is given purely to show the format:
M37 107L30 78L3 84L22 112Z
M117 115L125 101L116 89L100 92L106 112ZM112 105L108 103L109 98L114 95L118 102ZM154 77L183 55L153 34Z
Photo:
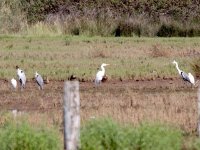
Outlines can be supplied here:
M18 65L31 79L35 71L50 79L66 80L71 74L92 81L101 63L111 64L110 79L177 77L172 65L191 70L200 55L199 38L114 38L82 36L1 36L0 78L16 76Z

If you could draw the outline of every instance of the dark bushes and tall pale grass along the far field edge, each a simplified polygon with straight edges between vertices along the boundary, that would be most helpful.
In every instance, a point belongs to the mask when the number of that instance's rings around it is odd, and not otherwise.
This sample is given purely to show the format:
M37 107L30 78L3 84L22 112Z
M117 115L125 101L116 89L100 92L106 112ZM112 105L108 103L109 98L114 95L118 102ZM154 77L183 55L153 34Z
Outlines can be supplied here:
M2 0L0 33L27 34L38 23L57 34L199 36L194 0Z

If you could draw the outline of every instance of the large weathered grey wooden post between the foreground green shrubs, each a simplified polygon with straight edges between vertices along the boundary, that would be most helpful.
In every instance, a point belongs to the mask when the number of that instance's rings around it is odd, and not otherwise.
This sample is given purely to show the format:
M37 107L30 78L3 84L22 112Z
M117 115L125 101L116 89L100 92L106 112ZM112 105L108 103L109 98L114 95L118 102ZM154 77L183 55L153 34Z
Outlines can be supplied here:
M77 150L80 146L79 82L67 81L64 85L64 149Z

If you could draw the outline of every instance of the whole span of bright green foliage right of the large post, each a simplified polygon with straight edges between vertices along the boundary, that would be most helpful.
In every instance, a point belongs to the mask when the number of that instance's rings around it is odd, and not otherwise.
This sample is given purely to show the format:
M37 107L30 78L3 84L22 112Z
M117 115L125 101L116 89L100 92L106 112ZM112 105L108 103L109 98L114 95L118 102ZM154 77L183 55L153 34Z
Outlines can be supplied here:
M81 149L181 149L179 130L160 124L125 127L109 119L88 122L81 130Z

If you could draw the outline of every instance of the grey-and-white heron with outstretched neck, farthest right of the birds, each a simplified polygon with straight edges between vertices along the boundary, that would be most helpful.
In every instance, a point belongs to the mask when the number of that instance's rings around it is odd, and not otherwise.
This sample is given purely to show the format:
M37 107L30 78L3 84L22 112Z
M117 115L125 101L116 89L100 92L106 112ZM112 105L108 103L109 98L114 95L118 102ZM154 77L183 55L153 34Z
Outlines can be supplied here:
M184 81L187 81L187 82L195 85L194 76L191 73L187 74L187 73L183 72L182 70L180 70L178 67L178 63L175 60L172 63L176 65L176 69L178 70L179 75L182 77L182 79Z

